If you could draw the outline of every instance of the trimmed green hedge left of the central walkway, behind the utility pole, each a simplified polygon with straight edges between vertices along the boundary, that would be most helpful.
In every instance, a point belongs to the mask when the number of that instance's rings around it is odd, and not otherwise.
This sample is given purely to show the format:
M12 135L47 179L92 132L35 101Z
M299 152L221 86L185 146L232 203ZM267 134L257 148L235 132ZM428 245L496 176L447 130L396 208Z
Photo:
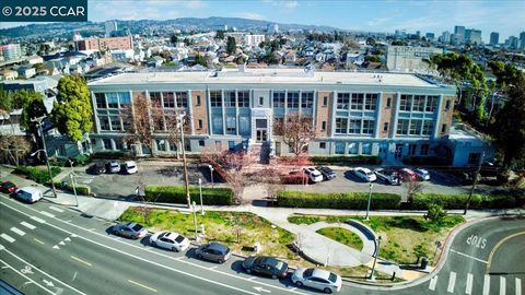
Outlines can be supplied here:
M149 202L187 203L184 186L145 186L145 200ZM199 187L189 187L191 201L200 203ZM202 188L202 202L207 205L231 205L231 188Z

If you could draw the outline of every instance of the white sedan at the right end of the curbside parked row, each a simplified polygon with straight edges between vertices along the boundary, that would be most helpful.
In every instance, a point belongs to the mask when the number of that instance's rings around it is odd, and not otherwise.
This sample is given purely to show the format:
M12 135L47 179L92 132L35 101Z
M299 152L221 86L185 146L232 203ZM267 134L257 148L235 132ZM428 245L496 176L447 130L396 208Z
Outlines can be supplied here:
M299 268L292 274L292 282L298 286L320 290L327 294L341 291L341 276L320 269Z

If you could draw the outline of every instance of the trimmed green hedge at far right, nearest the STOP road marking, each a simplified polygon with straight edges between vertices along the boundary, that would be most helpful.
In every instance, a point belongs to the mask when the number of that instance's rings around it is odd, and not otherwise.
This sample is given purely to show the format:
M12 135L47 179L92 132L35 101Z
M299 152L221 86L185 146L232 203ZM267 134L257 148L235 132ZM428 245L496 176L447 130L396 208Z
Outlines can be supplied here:
M444 193L416 193L412 198L413 209L428 209L429 204L436 203L444 209L464 209L468 200L468 193L444 194ZM470 209L505 209L520 206L522 201L512 194L472 194Z

